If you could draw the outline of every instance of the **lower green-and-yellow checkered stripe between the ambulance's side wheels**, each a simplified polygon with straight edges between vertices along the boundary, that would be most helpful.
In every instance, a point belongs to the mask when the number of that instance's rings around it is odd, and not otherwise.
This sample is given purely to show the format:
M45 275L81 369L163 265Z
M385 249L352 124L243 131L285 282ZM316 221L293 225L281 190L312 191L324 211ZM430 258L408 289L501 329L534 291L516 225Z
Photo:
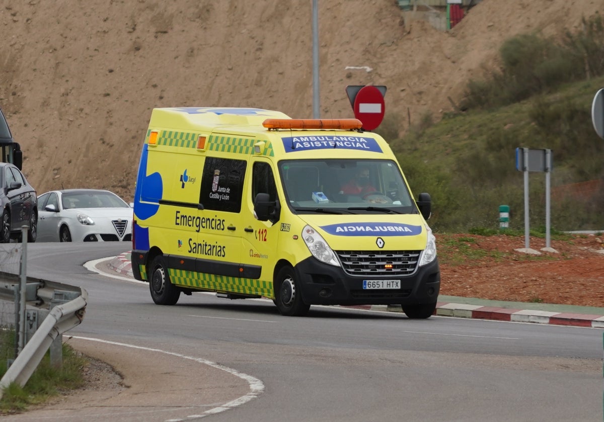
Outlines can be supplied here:
M172 268L168 269L168 273L172 283L179 286L272 297L272 283L265 280L239 279Z

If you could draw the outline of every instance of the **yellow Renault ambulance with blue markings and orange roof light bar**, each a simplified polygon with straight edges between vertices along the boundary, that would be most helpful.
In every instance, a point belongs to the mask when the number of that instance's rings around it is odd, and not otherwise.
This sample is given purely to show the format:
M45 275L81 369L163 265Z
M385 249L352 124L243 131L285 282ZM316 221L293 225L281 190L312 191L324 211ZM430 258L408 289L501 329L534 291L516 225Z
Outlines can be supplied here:
M181 293L434 313L430 197L357 119L244 108L154 109L134 198L132 270L156 304Z

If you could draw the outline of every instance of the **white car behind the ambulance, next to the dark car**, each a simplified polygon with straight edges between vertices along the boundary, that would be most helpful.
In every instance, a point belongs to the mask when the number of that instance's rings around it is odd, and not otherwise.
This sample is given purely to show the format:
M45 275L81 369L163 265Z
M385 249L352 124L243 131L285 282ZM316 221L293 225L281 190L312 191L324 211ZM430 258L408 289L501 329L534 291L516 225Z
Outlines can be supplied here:
M63 189L37 199L38 242L132 241L132 207L113 192Z

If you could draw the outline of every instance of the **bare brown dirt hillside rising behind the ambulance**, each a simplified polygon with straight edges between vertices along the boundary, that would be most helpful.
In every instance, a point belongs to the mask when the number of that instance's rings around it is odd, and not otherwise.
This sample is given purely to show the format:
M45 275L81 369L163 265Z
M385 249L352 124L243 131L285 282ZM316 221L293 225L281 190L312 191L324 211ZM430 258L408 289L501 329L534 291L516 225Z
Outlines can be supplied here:
M388 87L400 130L438 118L498 48L573 30L604 0L484 0L449 33L394 0L321 0L323 117L352 117L347 85ZM29 0L0 10L0 107L39 193L103 187L132 200L153 107L240 106L312 117L312 2ZM348 67L367 66L364 69Z

